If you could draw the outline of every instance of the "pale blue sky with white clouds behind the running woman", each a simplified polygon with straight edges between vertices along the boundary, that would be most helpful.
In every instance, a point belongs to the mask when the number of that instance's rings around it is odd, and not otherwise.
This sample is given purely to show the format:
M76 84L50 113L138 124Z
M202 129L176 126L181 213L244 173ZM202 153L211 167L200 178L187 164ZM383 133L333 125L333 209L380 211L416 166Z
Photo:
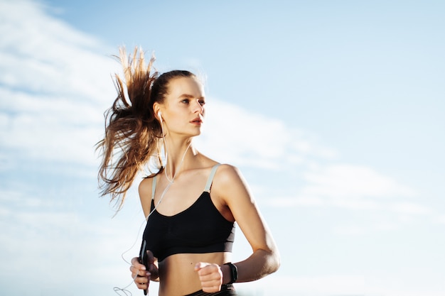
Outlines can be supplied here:
M429 0L0 0L2 294L131 283L121 254L136 241L136 255L144 217L133 188L112 218L93 146L112 55L140 45L161 72L205 77L196 145L242 170L277 240L282 268L243 295L444 295L444 13ZM249 252L238 231L235 261Z

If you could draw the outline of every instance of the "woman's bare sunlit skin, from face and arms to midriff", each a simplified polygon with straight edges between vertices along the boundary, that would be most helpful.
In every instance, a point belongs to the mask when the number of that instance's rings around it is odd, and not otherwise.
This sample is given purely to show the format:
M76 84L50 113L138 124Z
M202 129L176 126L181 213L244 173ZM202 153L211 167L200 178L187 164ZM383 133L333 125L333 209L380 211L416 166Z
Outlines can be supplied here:
M200 154L193 147L186 148L194 136L200 134L204 123L205 94L203 86L191 77L176 78L168 84L168 95L163 104L154 104L155 114L161 111L163 131L168 152L166 174L174 182L157 207L160 214L173 216L190 207L205 187L214 160ZM181 164L181 159L183 163ZM181 164L181 165L180 165ZM154 197L155 204L168 185L164 174L159 174ZM139 197L144 214L151 207L151 178L139 185ZM221 165L213 180L210 197L218 211L228 221L237 221L246 236L252 255L245 261L236 262L237 282L247 282L273 273L279 267L279 254L267 224L262 218L237 168ZM240 231L237 231L240 235ZM151 256L151 257L150 257ZM231 261L231 253L180 253L168 256L162 262L149 252L151 268L147 271L138 258L133 258L132 277L139 275L135 283L139 289L147 289L150 280L159 280L159 295L182 296L203 290L218 292L220 286L231 280L230 270L224 263Z

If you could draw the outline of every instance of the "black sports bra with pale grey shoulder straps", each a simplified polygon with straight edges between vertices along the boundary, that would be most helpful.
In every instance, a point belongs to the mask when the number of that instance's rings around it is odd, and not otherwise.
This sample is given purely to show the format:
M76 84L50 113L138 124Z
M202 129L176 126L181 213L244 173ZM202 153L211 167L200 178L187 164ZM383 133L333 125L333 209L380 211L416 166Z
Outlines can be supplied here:
M235 239L235 224L227 221L210 198L210 187L218 165L215 165L205 190L183 212L164 216L154 209L156 176L153 178L151 215L147 221L143 243L161 262L177 253L231 252Z

